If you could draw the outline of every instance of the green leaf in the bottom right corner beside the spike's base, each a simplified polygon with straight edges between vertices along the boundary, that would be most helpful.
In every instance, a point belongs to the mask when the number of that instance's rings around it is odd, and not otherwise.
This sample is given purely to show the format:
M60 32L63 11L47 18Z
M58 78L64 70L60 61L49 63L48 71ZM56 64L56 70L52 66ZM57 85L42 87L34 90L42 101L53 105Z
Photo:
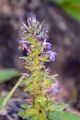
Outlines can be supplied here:
M70 112L52 111L48 114L48 120L80 120L80 116Z

